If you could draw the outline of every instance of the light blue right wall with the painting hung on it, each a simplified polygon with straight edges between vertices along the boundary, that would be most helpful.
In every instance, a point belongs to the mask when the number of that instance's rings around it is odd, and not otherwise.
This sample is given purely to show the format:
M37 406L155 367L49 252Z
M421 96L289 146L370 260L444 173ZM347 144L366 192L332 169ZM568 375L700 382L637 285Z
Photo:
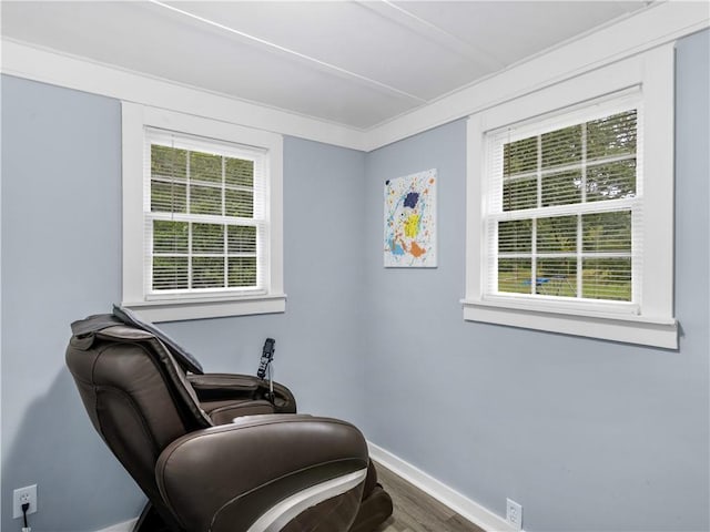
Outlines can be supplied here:
M368 154L373 442L529 531L710 528L708 37L678 45L678 352L464 323L465 122ZM384 182L433 167L439 267L384 269Z

